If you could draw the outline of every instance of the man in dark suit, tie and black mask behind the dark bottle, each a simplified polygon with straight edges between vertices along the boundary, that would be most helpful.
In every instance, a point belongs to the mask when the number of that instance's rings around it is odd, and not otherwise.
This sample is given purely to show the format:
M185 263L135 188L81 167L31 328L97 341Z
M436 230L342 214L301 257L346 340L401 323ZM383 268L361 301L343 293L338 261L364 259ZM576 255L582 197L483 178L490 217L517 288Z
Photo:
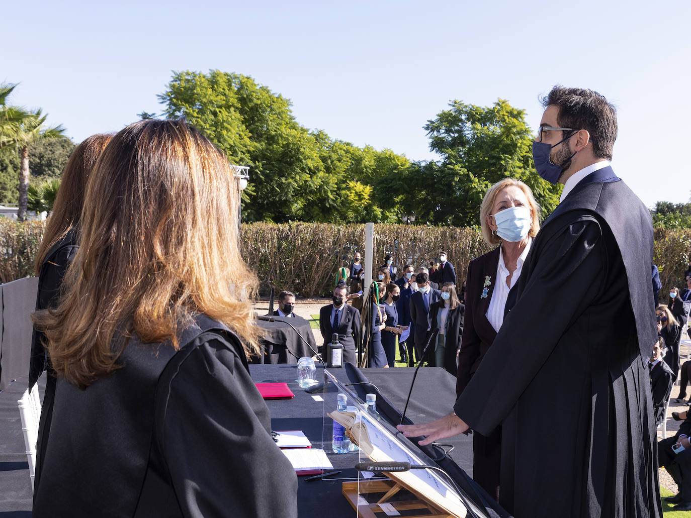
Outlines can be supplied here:
M323 306L319 310L319 330L324 338L321 350L324 354L326 344L331 343L332 334L338 333L339 342L343 345L343 361L357 365L355 347L359 340L362 323L359 311L346 304L347 300L348 286L339 282L334 288L334 303Z

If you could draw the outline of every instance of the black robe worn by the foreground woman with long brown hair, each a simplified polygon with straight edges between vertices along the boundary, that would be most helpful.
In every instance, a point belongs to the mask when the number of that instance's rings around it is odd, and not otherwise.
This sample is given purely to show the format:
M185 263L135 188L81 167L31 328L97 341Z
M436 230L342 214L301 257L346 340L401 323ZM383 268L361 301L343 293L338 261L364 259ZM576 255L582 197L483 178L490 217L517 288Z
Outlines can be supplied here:
M86 390L59 378L33 517L296 517L297 478L227 327L134 338Z

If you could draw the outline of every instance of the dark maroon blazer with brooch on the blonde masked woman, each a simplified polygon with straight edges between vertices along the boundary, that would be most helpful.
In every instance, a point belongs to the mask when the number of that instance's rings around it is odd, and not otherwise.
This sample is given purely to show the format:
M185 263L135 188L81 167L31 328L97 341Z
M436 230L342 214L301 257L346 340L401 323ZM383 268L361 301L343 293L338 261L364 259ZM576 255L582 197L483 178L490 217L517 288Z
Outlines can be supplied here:
M473 259L468 265L466 276L466 307L463 320L461 350L458 354L456 375L456 396L468 385L471 376L480 366L484 354L492 345L497 332L485 314L492 300L499 264L499 247ZM485 279L489 276L486 297L482 298Z

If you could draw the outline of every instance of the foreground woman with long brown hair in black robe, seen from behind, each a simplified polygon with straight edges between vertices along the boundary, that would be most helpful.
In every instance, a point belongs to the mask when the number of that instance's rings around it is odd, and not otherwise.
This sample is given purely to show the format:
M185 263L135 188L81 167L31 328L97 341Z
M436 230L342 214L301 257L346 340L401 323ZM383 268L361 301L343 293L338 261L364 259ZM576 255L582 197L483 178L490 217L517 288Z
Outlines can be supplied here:
M233 173L180 120L124 128L97 162L64 297L35 314L59 379L33 516L296 516L247 369Z

